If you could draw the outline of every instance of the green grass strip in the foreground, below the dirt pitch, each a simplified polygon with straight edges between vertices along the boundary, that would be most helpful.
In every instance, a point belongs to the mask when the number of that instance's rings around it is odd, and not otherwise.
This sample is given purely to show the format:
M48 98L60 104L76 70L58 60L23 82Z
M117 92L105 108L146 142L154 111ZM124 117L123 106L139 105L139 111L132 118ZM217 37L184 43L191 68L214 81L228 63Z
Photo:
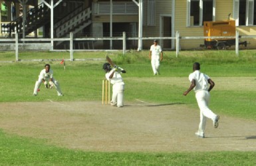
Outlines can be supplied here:
M255 165L256 152L108 153L45 145L0 131L0 165Z

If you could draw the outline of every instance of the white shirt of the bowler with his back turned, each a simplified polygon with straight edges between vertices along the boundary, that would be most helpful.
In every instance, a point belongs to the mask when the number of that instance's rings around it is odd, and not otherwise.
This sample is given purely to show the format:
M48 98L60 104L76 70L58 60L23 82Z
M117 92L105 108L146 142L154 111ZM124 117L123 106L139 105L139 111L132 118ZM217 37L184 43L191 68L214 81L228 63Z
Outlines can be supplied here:
M195 70L194 72L192 72L189 76L189 80L190 82L192 82L192 80L195 80L195 88L193 88L195 92L198 92L200 90L208 90L209 76L203 74L199 70Z

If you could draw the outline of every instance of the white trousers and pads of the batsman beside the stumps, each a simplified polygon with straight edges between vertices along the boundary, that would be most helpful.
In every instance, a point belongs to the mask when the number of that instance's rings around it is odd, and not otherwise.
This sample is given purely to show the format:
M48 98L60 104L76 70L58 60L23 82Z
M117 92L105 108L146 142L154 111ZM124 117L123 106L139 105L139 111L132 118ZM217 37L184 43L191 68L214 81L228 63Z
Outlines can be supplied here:
M112 102L118 107L124 106L124 82L117 82L113 85Z

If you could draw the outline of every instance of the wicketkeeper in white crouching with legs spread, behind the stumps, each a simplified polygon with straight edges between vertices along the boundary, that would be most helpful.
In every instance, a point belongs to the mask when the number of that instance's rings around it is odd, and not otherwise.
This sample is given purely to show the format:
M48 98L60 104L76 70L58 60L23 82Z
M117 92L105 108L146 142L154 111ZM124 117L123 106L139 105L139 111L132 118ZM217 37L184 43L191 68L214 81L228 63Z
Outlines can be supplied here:
M50 64L45 64L45 69L41 70L39 79L35 82L33 96L37 96L37 92L42 82L45 84L45 88L52 89L53 86L55 86L58 96L63 96L59 82L53 78L53 70L51 70Z

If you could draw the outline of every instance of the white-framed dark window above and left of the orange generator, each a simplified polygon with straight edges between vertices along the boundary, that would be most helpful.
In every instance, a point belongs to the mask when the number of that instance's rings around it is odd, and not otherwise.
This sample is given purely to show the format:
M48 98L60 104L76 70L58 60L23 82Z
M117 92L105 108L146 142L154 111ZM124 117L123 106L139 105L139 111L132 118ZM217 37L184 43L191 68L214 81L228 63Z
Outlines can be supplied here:
M202 26L215 20L215 0L187 0L187 26Z

